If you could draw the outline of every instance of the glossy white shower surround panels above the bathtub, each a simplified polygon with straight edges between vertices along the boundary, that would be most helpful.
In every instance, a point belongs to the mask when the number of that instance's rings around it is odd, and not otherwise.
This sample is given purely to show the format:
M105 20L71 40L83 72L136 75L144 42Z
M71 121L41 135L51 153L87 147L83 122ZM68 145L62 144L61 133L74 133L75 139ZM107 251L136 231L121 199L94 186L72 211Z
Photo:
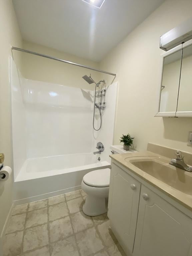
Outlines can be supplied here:
M14 61L11 88L15 179L26 159L90 153L97 151L98 141L105 151L95 155L95 161L99 156L101 161L110 161L116 84L107 89L107 107L98 132L92 127L94 91L24 79L18 75ZM99 127L98 116L96 125Z

